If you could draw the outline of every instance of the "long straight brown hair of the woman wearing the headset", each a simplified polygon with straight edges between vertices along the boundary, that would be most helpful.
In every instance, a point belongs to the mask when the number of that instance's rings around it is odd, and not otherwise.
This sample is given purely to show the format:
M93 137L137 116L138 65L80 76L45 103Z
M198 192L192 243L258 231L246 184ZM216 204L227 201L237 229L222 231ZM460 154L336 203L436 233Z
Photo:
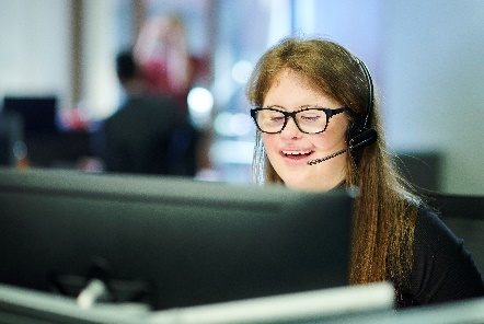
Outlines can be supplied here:
M284 69L299 73L315 89L349 107L350 125L356 116L367 113L369 80L359 59L343 46L319 38L283 39L261 57L249 80L246 95L253 105L263 104L276 74ZM347 154L346 186L359 189L354 205L349 281L356 285L391 280L400 294L410 285L417 197L387 151L378 96L373 100L370 127L379 135L377 142ZM253 162L257 183L283 183L267 160L258 131Z

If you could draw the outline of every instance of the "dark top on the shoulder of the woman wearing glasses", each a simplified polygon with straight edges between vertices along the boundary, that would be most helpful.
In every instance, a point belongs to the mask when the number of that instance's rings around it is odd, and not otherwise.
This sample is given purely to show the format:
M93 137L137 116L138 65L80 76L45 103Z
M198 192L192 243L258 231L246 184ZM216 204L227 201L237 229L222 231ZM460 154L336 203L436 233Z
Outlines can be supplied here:
M471 254L429 208L418 213L411 289L397 306L484 297L484 284Z

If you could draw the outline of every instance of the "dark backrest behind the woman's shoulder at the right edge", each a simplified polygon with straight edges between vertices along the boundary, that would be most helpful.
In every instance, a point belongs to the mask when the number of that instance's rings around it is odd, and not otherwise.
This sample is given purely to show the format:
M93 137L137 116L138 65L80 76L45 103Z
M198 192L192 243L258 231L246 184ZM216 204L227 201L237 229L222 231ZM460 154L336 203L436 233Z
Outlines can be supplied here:
M484 275L484 197L433 195L429 204L441 212L442 220L454 234L464 240Z

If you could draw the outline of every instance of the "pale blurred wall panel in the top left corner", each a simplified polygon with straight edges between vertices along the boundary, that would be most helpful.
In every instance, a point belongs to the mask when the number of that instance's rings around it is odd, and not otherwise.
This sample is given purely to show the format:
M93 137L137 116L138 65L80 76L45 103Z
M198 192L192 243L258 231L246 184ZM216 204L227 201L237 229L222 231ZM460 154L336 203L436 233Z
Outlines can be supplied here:
M0 97L70 90L70 1L0 1Z

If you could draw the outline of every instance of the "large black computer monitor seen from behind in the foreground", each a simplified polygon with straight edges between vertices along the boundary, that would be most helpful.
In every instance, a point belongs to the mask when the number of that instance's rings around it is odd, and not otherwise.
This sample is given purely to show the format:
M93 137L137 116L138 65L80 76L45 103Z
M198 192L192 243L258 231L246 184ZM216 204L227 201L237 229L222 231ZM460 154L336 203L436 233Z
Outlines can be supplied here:
M0 282L152 310L347 285L352 198L189 178L0 169Z

